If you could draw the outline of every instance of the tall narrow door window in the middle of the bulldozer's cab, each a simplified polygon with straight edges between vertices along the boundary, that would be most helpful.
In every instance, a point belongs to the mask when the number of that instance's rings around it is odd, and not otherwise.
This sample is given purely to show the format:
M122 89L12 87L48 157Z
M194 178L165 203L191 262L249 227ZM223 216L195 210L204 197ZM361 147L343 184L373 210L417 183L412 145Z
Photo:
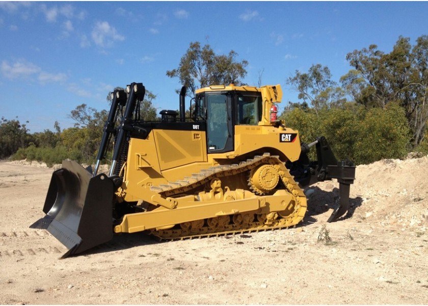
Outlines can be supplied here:
M221 150L226 146L229 132L227 128L227 97L224 94L207 96L208 149Z

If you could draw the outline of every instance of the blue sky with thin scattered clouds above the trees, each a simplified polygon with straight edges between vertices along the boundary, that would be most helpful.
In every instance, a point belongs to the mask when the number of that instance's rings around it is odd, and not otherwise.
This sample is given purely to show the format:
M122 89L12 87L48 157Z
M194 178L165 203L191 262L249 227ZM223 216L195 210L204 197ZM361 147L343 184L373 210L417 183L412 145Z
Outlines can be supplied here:
M178 67L190 42L247 60L243 80L281 84L312 64L333 80L351 69L345 56L370 44L389 53L399 35L428 33L427 2L0 2L0 117L29 121L30 133L73 126L83 103L109 109L116 86L142 82L154 106L178 109ZM282 107L281 107L282 106Z

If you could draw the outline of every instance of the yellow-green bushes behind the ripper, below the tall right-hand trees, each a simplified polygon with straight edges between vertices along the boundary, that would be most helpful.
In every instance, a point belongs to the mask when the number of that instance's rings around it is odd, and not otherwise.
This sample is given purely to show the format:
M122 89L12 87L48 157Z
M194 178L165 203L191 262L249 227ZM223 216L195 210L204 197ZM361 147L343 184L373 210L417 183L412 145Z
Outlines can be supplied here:
M299 130L310 143L325 136L337 159L368 164L380 159L403 158L407 154L409 126L405 111L396 104L386 109L362 106L349 109L293 109L281 116L287 126ZM315 150L310 157L315 159Z

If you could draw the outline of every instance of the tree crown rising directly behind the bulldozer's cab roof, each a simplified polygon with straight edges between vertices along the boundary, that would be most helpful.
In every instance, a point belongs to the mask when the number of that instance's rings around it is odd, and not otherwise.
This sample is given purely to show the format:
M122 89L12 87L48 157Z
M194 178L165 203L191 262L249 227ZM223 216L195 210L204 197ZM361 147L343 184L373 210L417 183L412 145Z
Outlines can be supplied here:
M209 44L201 47L200 42L191 42L187 52L181 57L178 68L168 70L170 78L179 78L193 96L197 88L210 85L241 85L240 79L247 74L246 60L236 61L238 54L231 50L228 55L216 55Z

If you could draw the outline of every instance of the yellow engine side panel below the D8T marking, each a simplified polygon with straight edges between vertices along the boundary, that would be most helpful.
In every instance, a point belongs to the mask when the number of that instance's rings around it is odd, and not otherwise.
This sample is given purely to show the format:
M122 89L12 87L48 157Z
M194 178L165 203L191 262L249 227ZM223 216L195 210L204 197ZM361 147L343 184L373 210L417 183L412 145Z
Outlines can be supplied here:
M153 129L147 139L131 138L124 175L124 199L143 199L143 186L183 179L206 163L206 133L195 130Z

